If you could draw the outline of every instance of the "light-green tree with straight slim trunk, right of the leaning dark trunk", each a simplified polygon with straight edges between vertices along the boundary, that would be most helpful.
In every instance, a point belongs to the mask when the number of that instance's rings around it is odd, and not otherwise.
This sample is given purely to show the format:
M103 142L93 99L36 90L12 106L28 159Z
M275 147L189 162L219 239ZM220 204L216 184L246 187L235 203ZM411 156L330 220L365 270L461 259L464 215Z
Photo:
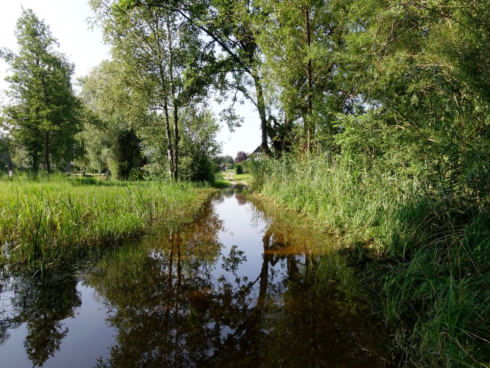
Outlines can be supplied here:
M269 93L279 97L286 122L298 122L301 146L309 152L322 138L331 142L335 114L349 110L352 91L339 72L345 0L262 0L268 17L257 33ZM331 148L331 147L329 147Z

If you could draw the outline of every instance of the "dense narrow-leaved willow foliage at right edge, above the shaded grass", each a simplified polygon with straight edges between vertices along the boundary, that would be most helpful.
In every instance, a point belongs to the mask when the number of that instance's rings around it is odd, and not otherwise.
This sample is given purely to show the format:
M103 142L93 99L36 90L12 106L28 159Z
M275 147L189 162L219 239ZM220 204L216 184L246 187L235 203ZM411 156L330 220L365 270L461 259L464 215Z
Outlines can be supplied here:
M488 2L372 0L351 9L345 58L369 111L343 121L344 147L393 171L418 167L444 197L486 196Z

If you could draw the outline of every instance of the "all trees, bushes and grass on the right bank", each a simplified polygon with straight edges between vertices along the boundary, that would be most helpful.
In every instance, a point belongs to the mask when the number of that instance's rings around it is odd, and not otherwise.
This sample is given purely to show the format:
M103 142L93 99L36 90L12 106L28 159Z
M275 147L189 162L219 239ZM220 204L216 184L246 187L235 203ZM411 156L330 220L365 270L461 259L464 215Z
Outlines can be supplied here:
M400 364L488 367L488 4L340 3L268 8L264 69L293 128L252 187L367 263Z

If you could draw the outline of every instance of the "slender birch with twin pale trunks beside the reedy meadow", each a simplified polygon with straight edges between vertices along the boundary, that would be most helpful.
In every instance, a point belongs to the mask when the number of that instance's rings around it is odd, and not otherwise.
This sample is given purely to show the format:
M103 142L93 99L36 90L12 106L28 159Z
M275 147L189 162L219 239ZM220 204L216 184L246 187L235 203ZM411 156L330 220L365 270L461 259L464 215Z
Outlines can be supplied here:
M179 114L204 101L212 49L195 25L165 8L127 8L112 0L91 5L120 66L117 103L135 124L147 124L144 116L152 112L164 115L169 175L177 180Z

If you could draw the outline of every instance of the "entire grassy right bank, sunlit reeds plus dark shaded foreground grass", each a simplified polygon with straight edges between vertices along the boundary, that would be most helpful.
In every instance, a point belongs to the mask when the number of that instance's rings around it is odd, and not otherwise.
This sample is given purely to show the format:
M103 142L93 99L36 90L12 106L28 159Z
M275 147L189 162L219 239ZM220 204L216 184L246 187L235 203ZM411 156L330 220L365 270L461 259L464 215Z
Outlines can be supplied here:
M488 200L441 196L413 172L374 167L348 158L264 160L251 187L337 234L367 262L401 352L396 363L488 367Z

